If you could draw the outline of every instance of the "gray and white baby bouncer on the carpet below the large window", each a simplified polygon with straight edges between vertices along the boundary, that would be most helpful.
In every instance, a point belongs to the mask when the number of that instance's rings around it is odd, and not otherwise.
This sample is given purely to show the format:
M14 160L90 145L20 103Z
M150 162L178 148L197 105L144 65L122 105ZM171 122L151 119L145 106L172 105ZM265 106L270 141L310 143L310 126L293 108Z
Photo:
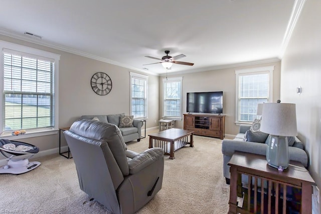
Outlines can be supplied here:
M39 148L28 143L0 139L0 152L8 163L0 168L0 174L22 174L37 168L38 161L29 162L29 158L39 152Z

